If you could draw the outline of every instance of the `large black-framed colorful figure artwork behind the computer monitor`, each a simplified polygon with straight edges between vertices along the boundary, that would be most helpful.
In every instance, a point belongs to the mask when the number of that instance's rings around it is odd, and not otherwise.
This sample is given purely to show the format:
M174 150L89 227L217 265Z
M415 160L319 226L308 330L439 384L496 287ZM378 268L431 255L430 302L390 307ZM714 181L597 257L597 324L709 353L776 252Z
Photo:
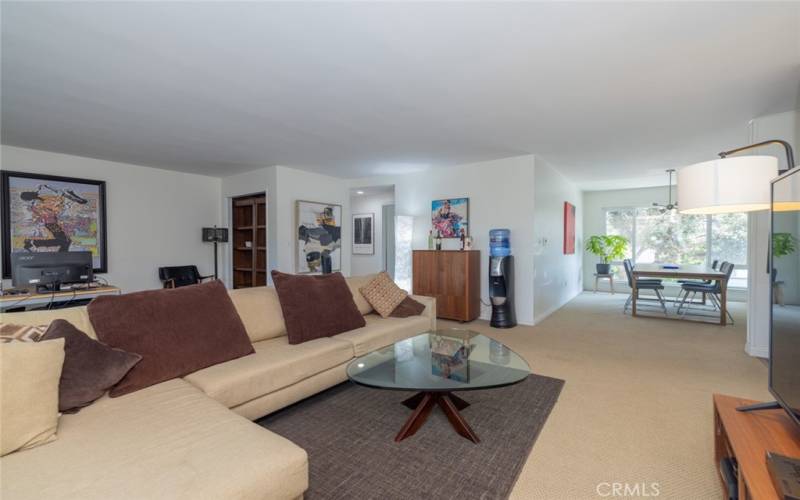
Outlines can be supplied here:
M106 183L2 172L3 277L15 252L92 252L94 272L108 272Z

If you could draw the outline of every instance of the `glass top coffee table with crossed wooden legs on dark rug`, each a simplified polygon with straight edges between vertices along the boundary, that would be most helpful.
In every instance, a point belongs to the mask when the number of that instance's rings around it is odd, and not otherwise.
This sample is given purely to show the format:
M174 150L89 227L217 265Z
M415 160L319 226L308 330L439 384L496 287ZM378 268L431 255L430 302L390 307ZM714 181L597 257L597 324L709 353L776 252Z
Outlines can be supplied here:
M522 382L530 373L528 363L501 342L461 329L423 333L347 365L347 376L357 384L418 391L403 401L414 411L395 441L414 435L438 405L456 432L478 443L478 436L459 413L469 403L453 392L504 387Z

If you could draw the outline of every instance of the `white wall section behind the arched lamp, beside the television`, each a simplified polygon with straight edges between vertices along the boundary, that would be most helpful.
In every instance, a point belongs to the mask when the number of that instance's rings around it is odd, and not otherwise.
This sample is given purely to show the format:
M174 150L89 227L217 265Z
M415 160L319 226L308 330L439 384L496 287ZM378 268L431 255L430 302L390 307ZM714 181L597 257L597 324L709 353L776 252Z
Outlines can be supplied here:
M769 139L782 139L795 149L795 163L800 161L800 110L778 113L756 118L749 124L749 143ZM744 144L743 144L744 145ZM736 147L732 145L731 147ZM787 168L786 153L780 146L767 146L753 154L765 154L778 158L780 169ZM751 356L769 357L770 275L767 274L767 252L770 232L768 211L750 215L750 243L748 258L754 272L748 274L747 345ZM763 271L762 271L763 270Z

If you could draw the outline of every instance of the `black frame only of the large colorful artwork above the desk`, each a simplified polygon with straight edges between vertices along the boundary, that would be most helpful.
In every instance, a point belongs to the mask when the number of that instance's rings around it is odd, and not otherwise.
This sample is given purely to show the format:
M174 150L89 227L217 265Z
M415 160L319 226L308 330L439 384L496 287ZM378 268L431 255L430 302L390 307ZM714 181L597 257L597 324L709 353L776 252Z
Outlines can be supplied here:
M34 179L43 182L70 182L75 184L87 184L97 186L99 195L98 213L100 220L98 221L98 237L97 246L100 249L100 267L94 268L94 273L107 273L108 272L108 217L106 205L106 182L93 179L81 179L77 177L62 177L58 175L45 175L35 174L30 172L13 172L2 171L0 172L0 206L2 207L3 217L2 235L0 241L3 242L3 278L11 277L11 195L10 195L10 181L13 178Z

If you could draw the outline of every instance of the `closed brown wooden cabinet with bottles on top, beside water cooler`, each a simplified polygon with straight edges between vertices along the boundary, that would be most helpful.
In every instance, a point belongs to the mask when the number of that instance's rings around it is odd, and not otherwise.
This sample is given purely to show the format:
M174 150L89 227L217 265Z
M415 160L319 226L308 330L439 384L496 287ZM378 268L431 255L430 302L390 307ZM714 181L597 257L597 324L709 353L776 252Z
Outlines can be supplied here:
M414 250L413 293L436 297L436 316L472 321L481 313L479 250Z

